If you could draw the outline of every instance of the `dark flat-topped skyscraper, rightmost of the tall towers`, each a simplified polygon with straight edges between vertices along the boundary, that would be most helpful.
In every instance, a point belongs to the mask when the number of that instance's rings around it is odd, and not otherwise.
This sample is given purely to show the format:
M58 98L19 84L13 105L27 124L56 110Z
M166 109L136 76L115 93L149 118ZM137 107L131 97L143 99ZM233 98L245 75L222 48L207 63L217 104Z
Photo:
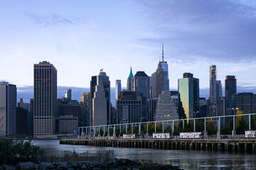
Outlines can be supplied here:
M235 76L226 76L225 79L225 100L227 108L232 106L232 96L237 93L237 81Z

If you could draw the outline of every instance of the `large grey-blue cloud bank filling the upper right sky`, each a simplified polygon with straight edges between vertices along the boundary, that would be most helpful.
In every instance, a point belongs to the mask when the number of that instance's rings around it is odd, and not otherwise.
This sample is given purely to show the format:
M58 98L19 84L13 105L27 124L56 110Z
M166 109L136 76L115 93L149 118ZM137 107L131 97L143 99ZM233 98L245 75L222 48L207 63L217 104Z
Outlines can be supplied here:
M251 62L256 60L256 6L236 1L141 1L147 28L179 60ZM168 53L168 50L166 50ZM166 54L168 55L168 54Z

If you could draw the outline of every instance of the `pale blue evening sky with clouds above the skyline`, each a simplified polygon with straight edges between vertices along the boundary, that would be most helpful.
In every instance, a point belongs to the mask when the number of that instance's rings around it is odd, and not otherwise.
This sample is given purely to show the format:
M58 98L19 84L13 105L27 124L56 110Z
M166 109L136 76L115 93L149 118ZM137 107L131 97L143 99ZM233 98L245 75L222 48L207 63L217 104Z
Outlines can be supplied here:
M116 79L125 87L130 67L156 71L164 42L171 89L184 72L208 89L215 64L223 87L235 75L238 92L256 92L255 30L250 0L3 0L0 80L21 93L33 86L33 64L46 60L58 70L58 86L88 88L104 69L112 87Z

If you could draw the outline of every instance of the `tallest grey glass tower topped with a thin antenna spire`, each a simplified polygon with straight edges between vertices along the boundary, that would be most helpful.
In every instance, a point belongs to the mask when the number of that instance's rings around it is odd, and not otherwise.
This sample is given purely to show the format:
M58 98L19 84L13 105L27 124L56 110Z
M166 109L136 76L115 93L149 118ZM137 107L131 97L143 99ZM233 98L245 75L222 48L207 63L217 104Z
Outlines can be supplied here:
M164 43L162 44L162 61L159 60L156 72L151 75L151 98L158 98L162 91L169 91L168 64L164 61Z

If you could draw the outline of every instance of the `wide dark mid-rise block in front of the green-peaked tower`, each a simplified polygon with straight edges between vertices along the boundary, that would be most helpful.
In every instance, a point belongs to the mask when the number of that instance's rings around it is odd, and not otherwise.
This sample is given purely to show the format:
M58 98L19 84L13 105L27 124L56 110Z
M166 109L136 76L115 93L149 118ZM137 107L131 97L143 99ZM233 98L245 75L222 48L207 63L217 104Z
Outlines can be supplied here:
M117 100L117 123L142 121L142 98L136 91L121 91Z

